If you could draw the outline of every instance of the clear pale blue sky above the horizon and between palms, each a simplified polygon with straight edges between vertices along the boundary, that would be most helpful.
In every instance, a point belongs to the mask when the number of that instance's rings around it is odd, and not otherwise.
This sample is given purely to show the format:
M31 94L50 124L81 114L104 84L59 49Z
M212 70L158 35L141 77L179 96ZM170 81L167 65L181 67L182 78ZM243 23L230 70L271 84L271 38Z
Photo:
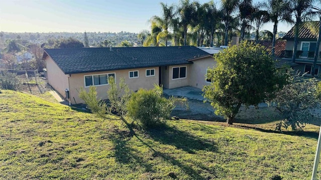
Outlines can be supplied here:
M161 15L160 2L178 4L179 0L0 0L0 31L139 32L150 29L151 16ZM278 31L290 28L278 25ZM263 29L272 31L273 25Z

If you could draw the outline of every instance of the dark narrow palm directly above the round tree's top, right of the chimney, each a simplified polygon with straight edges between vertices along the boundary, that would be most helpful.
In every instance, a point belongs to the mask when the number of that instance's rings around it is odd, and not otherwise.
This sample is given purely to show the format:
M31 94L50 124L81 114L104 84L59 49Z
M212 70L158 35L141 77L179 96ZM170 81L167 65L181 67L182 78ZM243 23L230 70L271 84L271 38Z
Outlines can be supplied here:
M253 13L252 0L242 0L239 5L239 18L241 24L240 41L244 39L245 30L251 27L251 17Z

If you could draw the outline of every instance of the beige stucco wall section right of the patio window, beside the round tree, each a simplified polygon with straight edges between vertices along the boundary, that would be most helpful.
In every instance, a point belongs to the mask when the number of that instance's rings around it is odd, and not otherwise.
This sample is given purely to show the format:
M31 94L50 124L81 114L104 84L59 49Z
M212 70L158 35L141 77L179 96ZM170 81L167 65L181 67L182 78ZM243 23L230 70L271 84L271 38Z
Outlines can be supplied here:
M203 59L196 59L193 61L189 69L189 84L193 87L202 89L204 85L208 85L205 75L207 69L213 68L216 65L216 61L213 57L206 57Z

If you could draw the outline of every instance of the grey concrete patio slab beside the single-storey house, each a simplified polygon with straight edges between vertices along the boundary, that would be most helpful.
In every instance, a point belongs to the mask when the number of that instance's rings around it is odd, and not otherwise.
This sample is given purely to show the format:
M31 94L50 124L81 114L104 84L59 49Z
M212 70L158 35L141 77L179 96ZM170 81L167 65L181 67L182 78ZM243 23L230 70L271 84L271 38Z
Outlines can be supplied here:
M197 99L197 100L204 100L202 89L195 88L192 86L183 86L183 87L177 87L172 89L166 89L164 88L164 94L166 95L173 95L173 96L179 96L179 97L186 97L191 99Z

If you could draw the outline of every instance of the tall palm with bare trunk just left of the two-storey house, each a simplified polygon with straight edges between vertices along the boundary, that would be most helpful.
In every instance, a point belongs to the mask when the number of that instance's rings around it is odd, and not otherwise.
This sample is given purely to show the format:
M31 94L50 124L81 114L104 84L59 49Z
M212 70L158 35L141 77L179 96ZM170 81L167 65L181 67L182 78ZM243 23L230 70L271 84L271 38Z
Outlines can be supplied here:
M272 55L274 56L275 41L277 33L277 24L279 21L291 22L291 14L289 11L289 0L267 0L264 3L270 21L273 22L273 39L272 39Z

